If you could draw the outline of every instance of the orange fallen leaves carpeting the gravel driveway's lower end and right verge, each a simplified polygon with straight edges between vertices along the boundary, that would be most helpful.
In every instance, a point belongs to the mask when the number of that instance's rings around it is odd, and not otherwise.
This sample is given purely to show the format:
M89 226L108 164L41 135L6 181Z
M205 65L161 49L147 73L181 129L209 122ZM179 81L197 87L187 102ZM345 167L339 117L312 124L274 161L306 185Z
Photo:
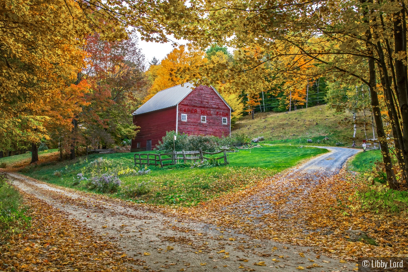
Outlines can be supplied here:
M239 230L256 239L312 246L319 254L347 261L358 256L408 257L408 218L361 211L354 196L362 184L345 169L335 176L292 171L255 184L204 206L161 207L160 211ZM348 241L350 228L367 233L379 246Z

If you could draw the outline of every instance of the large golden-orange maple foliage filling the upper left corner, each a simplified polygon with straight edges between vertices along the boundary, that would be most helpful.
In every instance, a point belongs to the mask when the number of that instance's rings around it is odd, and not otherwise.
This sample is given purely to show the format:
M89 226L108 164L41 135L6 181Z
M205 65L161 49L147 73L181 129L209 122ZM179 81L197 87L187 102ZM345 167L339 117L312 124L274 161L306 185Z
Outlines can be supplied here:
M78 89L67 86L85 65L86 34L106 30L106 38L117 39L126 37L126 32L109 31L115 26L110 22L101 27L82 20L84 9L75 1L6 1L1 14L0 149L31 143L35 162L36 146L50 139L49 129L57 121L62 122L58 126L66 126L71 112L77 110ZM98 14L89 16L89 20L98 19Z

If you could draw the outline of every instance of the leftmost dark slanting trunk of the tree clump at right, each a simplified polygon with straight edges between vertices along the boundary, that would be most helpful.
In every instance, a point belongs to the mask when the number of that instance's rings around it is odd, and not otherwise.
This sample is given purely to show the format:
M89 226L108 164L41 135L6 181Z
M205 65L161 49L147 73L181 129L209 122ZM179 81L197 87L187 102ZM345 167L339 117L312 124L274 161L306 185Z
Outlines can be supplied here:
M371 38L371 32L369 38ZM375 78L375 60L373 58L368 58L368 69L370 72L370 85L368 87L370 88L371 94L371 106L373 107L375 125L377 126L377 136L381 147L381 154L383 156L387 181L390 188L397 190L399 188L399 183L397 182L394 170L392 169L392 161L390 150L388 149L387 136L384 132L384 125L382 123L381 110L377 95L377 82Z

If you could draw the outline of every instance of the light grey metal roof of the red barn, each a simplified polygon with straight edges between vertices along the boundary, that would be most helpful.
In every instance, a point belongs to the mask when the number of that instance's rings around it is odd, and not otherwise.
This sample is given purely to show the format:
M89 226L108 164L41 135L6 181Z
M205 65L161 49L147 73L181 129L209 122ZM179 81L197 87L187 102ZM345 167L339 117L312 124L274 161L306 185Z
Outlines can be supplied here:
M218 91L213 86L211 87L218 94L218 96L220 96L224 103L233 111L233 109L230 107L230 105L228 105L228 103L226 103ZM188 96L188 94L190 94L194 89L194 83L190 81L159 91L152 98L147 100L146 103L140 106L140 108L133 112L133 115L173 107L186 98L186 96Z

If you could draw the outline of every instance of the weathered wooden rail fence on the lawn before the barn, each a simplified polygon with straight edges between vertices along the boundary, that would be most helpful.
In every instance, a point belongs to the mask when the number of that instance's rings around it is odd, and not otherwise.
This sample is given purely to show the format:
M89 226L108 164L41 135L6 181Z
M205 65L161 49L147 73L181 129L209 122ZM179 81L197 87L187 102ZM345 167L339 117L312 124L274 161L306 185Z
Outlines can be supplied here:
M229 164L228 158L227 158L227 152L226 150L229 149L229 147L222 147L221 151L217 152L205 152L202 151L201 149L199 151L173 151L169 153L164 153L164 154L152 154L152 153L138 153L134 155L135 159L135 166L136 165L160 165L161 167L165 165L175 165L178 161L182 161L183 163L186 163L187 161L198 161L200 160L201 162L204 161L204 159L209 160L210 158L204 157L204 155L215 155L215 154L220 154L223 153L222 156L216 158L217 160L219 159L224 159L224 165ZM179 156L182 155L182 156Z

